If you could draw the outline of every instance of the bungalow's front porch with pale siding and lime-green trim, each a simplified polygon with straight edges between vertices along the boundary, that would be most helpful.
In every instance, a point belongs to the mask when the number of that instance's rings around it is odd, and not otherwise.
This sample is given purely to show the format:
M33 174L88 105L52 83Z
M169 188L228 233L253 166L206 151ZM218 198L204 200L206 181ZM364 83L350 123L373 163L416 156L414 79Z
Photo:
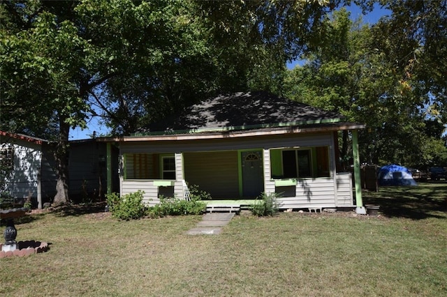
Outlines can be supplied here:
M121 195L143 190L144 201L155 205L161 196L187 199L188 185L198 185L211 194L210 208L248 207L261 193L278 195L283 210L362 207L353 174L337 172L332 132L236 140L182 142L181 150L178 139L124 142Z

